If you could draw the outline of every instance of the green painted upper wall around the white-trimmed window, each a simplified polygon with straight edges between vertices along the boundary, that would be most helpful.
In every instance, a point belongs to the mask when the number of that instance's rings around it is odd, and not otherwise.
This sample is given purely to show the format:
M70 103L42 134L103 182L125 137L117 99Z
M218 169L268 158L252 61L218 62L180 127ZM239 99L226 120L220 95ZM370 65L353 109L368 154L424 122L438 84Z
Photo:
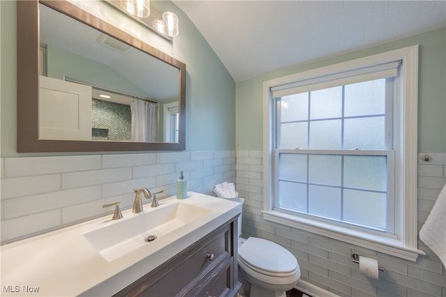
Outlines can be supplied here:
M237 150L263 150L262 84L264 81L410 45L420 45L418 151L446 152L446 29L423 33L238 82L236 86Z

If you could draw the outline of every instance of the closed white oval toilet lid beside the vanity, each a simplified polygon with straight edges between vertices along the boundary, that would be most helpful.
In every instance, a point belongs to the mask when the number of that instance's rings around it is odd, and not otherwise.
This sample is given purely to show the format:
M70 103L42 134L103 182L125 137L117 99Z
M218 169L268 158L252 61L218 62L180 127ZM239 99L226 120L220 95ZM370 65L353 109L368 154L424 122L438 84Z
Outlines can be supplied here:
M282 246L266 239L249 237L238 248L238 257L261 271L291 273L298 267L298 260Z

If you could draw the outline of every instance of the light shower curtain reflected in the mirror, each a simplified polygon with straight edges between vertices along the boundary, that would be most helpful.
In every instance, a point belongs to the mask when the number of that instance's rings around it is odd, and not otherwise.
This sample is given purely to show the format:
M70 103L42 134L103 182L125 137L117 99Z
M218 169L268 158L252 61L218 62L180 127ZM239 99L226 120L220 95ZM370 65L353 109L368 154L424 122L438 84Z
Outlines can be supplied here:
M146 100L133 99L132 139L134 142L155 142L157 130L157 105Z

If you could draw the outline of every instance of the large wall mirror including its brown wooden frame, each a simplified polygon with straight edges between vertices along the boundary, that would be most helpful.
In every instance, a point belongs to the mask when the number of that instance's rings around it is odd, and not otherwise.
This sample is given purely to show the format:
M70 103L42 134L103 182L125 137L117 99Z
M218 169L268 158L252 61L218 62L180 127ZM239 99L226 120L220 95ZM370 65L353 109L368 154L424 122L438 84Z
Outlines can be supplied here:
M141 104L153 106L151 124L143 124L152 132L138 137L128 126L138 122L137 109L141 123ZM105 108L127 116L118 125L101 123ZM82 132L71 135L70 124ZM184 149L184 63L67 1L17 1L18 152Z

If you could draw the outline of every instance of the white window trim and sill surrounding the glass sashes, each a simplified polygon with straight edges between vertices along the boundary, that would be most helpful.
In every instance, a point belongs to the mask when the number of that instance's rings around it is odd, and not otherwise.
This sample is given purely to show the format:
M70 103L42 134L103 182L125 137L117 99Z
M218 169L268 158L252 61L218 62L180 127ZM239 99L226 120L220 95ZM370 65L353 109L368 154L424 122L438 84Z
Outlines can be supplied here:
M275 188L273 166L275 162L275 100L272 98L271 89L291 82L392 61L402 61L400 75L397 78L399 89L396 90L397 98L393 111L394 187L397 201L395 211L399 212L397 215L399 222L396 222L399 237L381 236L374 231L348 227L346 224L332 224L309 216L296 216L275 209L275 193L273 192ZM418 254L425 254L417 248L417 82L418 45L263 82L263 218L410 261L416 261Z

